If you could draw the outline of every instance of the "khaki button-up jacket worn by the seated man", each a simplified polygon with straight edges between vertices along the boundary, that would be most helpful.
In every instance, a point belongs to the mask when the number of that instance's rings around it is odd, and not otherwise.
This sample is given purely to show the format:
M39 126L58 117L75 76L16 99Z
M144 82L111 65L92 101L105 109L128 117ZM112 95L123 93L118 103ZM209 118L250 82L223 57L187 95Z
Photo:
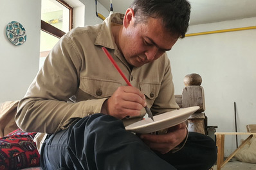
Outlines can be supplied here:
M150 64L129 68L111 33L111 24L122 24L122 20L122 14L113 13L102 24L75 28L60 38L19 102L15 121L21 129L59 132L75 119L99 113L104 101L118 87L127 85L102 46L109 50L131 84L145 94L154 115L179 108L166 53ZM140 117L123 122L131 124L144 115L145 109Z

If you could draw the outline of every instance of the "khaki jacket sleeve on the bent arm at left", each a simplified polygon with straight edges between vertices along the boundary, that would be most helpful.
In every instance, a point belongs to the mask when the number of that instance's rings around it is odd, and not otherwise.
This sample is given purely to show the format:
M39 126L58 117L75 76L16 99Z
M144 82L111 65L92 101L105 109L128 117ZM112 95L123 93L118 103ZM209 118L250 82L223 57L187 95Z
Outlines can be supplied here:
M100 112L105 99L67 102L78 90L82 52L64 35L47 56L26 95L15 121L26 132L56 133L75 119Z

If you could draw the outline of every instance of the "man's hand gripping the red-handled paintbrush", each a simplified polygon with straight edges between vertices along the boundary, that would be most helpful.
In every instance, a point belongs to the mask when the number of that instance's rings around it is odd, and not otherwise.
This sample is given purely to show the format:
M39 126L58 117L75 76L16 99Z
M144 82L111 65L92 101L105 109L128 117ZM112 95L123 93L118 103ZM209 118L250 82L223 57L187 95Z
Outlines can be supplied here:
M145 96L139 89L122 86L118 87L102 107L104 107L107 114L123 119L127 116L140 115L140 110L146 105Z

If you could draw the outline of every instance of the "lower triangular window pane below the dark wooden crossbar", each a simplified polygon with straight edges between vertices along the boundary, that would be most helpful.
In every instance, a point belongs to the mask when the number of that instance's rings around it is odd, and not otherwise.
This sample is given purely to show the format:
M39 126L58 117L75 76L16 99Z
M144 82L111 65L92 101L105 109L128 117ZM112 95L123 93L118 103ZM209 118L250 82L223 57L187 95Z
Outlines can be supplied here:
M46 56L50 53L51 49L58 41L59 38L41 31L39 68L41 68L41 66L44 64Z

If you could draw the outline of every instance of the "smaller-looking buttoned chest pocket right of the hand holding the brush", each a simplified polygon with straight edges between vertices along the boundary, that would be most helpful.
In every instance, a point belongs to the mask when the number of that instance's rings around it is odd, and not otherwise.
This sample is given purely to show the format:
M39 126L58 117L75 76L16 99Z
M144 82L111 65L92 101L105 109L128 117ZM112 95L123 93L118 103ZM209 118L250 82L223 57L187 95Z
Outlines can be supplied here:
M140 83L140 89L147 97L147 104L149 107L153 105L154 100L158 97L160 87L160 83Z

